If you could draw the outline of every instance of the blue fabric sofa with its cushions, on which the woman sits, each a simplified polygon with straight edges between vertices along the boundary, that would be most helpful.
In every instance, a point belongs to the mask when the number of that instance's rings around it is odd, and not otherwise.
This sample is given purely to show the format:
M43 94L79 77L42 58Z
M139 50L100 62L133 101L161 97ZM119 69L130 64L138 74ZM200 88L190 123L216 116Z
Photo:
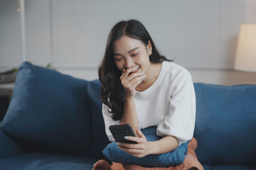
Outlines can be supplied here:
M23 62L0 124L0 169L92 169L105 159L100 86ZM194 86L204 169L256 169L256 86Z

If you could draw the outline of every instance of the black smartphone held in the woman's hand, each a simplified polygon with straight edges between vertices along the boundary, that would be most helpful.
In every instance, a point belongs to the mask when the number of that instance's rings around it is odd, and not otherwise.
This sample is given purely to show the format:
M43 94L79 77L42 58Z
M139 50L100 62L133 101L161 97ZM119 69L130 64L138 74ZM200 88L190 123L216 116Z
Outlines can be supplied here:
M129 124L111 125L110 132L112 133L114 140L116 142L126 142L126 143L131 143L131 144L137 144L137 142L124 139L125 136L134 136L135 137L132 127Z

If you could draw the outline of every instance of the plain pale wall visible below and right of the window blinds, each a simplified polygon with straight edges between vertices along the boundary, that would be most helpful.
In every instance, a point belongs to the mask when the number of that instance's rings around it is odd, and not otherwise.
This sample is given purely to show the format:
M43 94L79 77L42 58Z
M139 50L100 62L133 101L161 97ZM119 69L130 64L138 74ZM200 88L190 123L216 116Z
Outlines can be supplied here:
M245 1L244 1L245 2ZM246 0L246 23L256 23L256 1ZM256 67L256 66L255 66ZM240 72L230 69L189 69L194 82L206 84L223 84L231 86L235 84L256 84L256 73ZM97 69L60 69L60 72L74 75L82 79L97 79Z

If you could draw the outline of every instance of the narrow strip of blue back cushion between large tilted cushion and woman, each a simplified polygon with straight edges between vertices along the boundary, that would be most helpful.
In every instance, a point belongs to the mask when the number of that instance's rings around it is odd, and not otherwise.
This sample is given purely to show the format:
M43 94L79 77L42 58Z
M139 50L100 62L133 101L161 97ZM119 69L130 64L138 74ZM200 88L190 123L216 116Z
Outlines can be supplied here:
M92 113L92 157L105 159L102 150L110 143L105 132L105 123L102 116L102 101L100 96L100 81L98 79L90 81L87 90L90 99Z

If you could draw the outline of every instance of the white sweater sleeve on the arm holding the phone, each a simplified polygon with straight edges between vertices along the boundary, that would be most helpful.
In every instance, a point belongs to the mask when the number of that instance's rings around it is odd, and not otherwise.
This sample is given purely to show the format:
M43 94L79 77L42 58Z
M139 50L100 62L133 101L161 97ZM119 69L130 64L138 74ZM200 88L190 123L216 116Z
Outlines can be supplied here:
M196 119L196 96L189 72L182 72L171 82L169 113L158 125L156 134L176 137L179 146L193 137Z

